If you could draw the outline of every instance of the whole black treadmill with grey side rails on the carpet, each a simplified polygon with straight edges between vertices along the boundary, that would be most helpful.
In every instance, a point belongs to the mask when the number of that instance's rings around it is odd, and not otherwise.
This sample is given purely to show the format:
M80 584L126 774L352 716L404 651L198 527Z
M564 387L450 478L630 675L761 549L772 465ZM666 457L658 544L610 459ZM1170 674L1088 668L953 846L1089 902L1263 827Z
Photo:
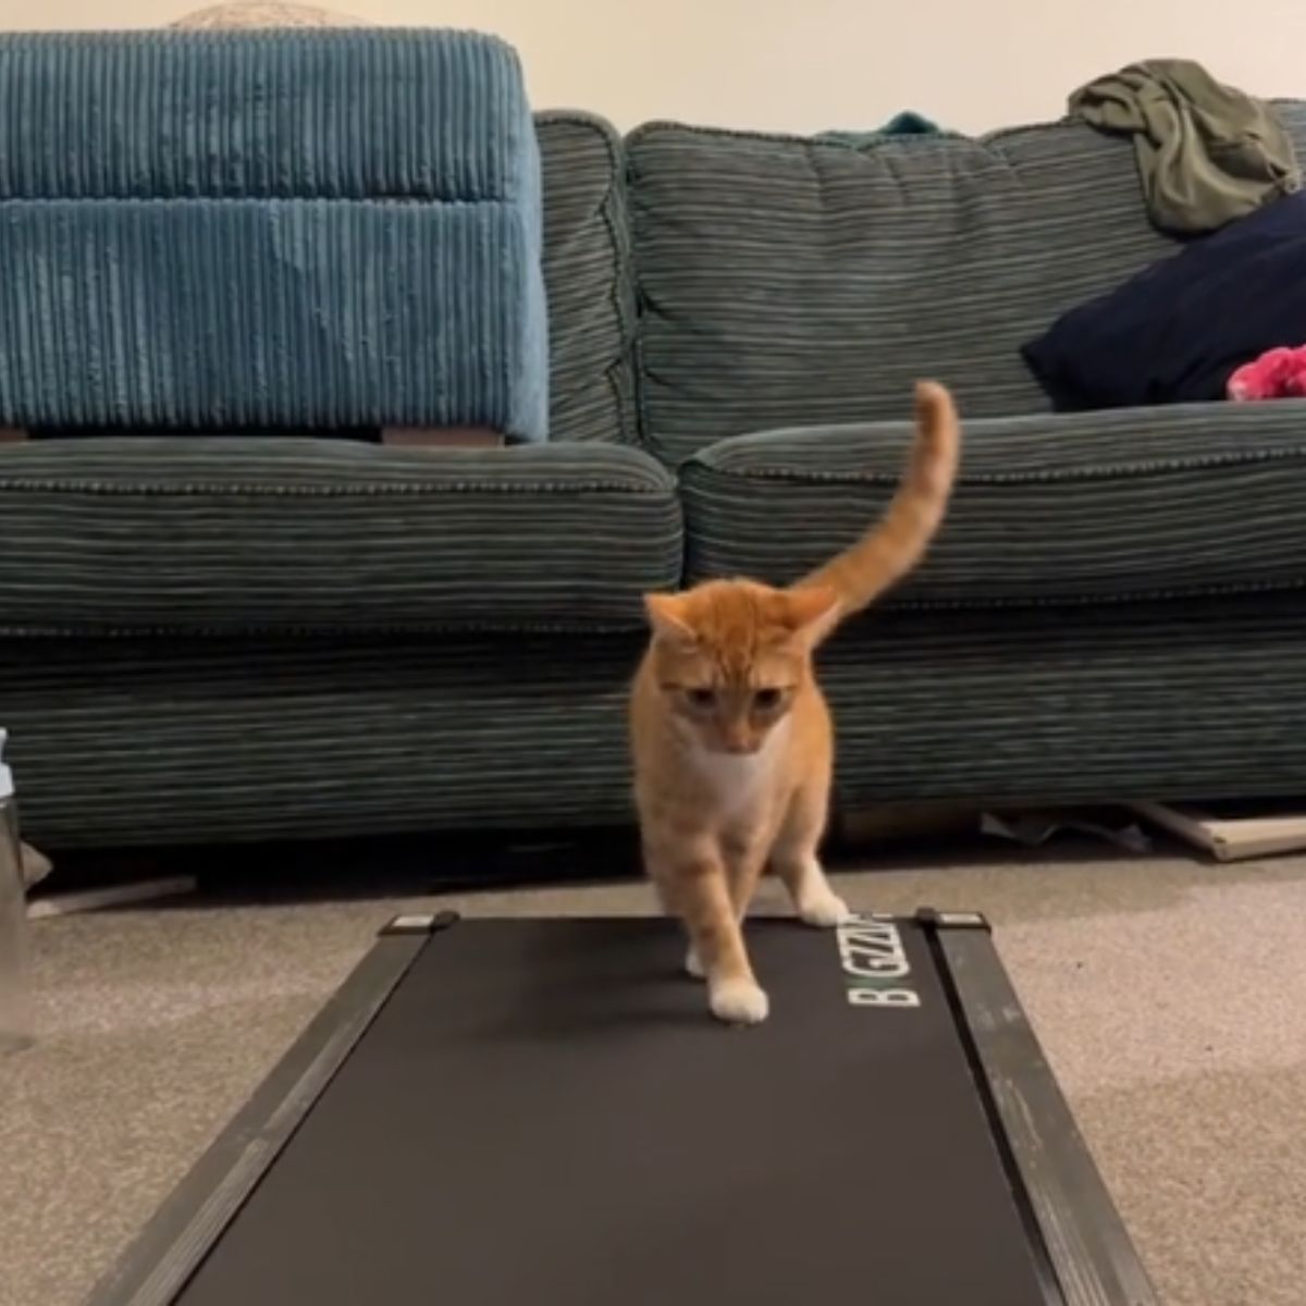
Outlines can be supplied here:
M985 919L404 916L89 1306L1155 1306Z

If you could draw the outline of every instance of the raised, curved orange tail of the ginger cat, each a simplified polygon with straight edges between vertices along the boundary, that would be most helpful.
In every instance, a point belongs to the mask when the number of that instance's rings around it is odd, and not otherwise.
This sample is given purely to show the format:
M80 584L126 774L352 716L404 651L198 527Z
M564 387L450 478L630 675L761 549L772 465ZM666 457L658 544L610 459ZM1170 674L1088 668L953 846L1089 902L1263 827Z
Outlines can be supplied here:
M936 381L917 383L916 426L906 473L884 516L794 586L832 589L841 616L867 607L910 572L943 525L961 461L961 423L952 396Z

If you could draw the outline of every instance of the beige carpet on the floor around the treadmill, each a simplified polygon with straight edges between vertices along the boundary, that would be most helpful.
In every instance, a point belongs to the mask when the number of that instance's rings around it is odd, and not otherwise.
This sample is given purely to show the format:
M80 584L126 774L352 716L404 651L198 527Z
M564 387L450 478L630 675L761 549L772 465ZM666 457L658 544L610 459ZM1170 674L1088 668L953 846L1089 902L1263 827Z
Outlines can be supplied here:
M1306 1302L1306 859L840 879L861 909L989 913L1162 1301ZM650 908L633 887L447 901ZM81 1301L396 909L40 923L44 1037L0 1062L0 1306Z

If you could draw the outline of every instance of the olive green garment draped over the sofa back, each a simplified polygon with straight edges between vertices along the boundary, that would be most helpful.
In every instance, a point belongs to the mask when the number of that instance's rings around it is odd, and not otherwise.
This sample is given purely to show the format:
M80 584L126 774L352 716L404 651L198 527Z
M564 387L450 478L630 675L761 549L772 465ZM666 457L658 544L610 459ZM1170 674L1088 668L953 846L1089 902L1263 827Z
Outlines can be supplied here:
M1081 86L1070 112L1134 137L1148 213L1162 231L1213 231L1298 189L1273 108L1187 59L1155 59Z

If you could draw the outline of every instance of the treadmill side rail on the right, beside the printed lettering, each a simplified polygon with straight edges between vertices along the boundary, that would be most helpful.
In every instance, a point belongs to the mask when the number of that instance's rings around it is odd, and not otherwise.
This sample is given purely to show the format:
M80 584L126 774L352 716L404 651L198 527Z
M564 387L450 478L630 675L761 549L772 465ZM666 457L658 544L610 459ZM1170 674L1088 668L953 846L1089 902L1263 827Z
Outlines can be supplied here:
M1066 1306L1158 1306L989 932L935 938Z

